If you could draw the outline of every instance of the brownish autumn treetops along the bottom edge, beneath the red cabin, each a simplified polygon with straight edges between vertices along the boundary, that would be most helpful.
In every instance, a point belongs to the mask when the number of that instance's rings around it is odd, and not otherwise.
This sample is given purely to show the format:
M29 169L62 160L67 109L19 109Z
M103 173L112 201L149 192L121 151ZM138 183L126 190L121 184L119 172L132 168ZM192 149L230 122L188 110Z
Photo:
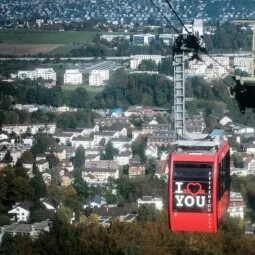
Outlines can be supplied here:
M93 218L85 218L77 225L70 225L57 218L51 231L29 236L4 235L1 254L194 254L232 255L255 253L254 238L242 234L237 222L225 219L216 234L171 233L167 213L164 211L154 221L122 223L113 221L102 227Z

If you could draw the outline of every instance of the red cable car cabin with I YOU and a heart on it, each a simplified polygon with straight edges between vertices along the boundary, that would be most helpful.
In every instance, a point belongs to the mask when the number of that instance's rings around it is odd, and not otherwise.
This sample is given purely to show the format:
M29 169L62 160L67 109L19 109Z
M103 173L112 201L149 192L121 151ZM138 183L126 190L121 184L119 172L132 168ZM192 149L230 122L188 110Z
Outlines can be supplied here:
M171 231L217 232L230 194L227 141L180 141L169 162Z

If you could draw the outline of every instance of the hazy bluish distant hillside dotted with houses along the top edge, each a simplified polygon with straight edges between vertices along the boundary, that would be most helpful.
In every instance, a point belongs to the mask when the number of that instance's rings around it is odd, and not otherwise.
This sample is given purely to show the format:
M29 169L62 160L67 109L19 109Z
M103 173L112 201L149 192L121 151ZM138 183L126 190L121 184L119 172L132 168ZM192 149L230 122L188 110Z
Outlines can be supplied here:
M163 0L153 0L170 19L176 20ZM231 20L255 17L253 0L172 0L180 17L187 21L194 18L205 20ZM22 4L1 1L0 25L11 25L45 19L52 21L100 20L116 23L165 22L150 0L23 0Z

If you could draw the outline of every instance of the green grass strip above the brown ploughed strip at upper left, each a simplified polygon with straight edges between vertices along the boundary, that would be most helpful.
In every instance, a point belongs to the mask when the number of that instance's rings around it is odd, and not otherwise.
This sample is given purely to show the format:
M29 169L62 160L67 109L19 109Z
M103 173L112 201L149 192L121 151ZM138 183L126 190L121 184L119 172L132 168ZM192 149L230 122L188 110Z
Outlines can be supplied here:
M2 43L20 44L72 44L91 42L97 32L90 31L44 31L44 30L0 30Z

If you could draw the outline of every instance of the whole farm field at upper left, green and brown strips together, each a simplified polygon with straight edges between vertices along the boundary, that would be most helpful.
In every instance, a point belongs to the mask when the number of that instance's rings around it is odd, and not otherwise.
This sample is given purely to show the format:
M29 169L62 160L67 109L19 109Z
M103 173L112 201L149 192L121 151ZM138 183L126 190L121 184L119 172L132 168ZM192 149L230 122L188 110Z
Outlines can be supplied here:
M75 47L74 44L92 42L96 34L90 31L0 30L0 54L67 54Z

